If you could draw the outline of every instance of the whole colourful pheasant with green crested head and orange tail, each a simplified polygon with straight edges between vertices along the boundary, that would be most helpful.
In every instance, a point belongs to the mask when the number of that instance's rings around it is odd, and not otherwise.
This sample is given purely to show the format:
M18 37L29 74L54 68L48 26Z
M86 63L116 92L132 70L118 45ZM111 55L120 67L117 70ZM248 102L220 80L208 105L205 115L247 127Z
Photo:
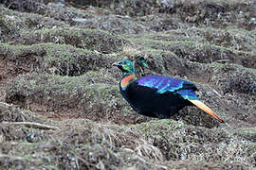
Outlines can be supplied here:
M146 65L146 59L138 60L143 66ZM136 78L134 63L128 59L117 61L113 66L122 72L119 92L137 113L169 119L186 106L196 106L224 123L222 118L200 101L195 93L198 89L192 82L174 76L150 75Z

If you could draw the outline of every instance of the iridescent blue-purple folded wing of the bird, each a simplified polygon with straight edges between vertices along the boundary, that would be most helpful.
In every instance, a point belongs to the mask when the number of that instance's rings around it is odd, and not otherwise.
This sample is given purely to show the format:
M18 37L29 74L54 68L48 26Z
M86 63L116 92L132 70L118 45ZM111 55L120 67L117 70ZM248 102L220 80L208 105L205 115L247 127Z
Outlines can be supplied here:
M192 82L171 76L143 76L137 79L137 84L153 89L157 89L156 93L178 93L184 99L198 100L194 91L197 90Z

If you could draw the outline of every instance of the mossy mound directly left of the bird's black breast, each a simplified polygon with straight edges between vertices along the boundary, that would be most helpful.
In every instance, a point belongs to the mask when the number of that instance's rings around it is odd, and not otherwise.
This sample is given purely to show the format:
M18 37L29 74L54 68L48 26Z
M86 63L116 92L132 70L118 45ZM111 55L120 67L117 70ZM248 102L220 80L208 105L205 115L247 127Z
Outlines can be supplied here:
M30 110L38 108L37 105L54 111L76 108L80 110L77 114L82 117L95 117L93 110L105 110L107 113L116 108L120 98L118 89L113 84L91 84L86 75L70 77L32 74L16 78L9 86L7 101L20 103Z

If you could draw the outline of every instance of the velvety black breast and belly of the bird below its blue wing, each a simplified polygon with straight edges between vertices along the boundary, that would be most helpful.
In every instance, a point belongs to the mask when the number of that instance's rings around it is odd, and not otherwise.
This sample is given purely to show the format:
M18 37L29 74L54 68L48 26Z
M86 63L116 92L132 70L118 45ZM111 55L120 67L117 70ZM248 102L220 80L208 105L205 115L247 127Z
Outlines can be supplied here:
M139 114L160 119L170 118L185 106L192 103L174 93L156 93L156 89L138 86L136 82L130 84L125 91L121 91L123 97L131 107Z

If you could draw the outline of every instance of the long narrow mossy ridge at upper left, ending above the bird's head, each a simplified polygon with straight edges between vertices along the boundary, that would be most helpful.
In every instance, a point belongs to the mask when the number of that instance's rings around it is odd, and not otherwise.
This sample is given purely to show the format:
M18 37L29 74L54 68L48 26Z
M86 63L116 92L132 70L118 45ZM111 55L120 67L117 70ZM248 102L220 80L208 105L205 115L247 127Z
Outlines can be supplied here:
M65 43L101 53L118 52L122 50L126 43L129 43L120 36L110 34L107 31L71 27L24 32L20 42L25 44L39 42Z

